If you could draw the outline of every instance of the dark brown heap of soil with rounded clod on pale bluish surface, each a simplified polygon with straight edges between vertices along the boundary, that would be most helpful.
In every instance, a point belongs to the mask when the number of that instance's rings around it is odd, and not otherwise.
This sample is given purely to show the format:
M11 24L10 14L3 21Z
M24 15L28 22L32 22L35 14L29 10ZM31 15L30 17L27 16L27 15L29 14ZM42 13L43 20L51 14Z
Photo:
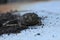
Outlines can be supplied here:
M0 35L10 33L20 33L20 31L27 29L28 26L36 24L41 25L41 19L39 19L35 13L26 13L23 16L12 15L12 12L0 14ZM40 35L39 33L37 35Z

